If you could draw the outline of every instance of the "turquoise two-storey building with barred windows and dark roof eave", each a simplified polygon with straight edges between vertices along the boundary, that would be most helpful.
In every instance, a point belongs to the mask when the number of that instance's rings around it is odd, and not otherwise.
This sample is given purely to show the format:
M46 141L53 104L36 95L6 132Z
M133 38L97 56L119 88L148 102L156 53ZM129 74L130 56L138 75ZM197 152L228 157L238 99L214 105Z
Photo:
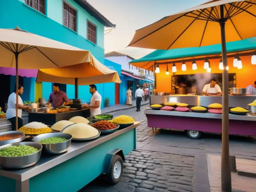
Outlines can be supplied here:
M45 0L43 5L35 6L34 0L0 1L0 28L15 28L29 31L54 39L81 49L89 50L92 55L104 64L104 27L115 27L87 2L79 0ZM39 2L39 1L38 1ZM31 4L29 4L31 3ZM67 15L68 14L68 15ZM67 20L72 18L72 20ZM35 63L36 64L36 63ZM15 84L11 77L10 87ZM23 100L35 100L35 78L24 77ZM113 83L98 84L97 88L104 100L111 98ZM42 82L42 97L48 99L52 83ZM74 98L74 86L66 86L67 95ZM103 96L104 95L104 96ZM79 98L88 101L91 98L88 86L79 86ZM114 105L110 99L110 105ZM101 107L104 106L102 102Z

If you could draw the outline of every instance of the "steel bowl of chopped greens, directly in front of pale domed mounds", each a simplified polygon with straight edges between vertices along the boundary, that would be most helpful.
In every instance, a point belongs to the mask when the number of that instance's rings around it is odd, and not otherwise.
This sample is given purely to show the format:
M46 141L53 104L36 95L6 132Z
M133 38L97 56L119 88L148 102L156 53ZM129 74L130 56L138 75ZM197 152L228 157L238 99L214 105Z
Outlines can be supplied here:
M52 143L52 144L45 144L40 143L43 139L48 139L51 137L65 137L67 141L61 143ZM32 141L36 143L40 143L43 145L43 151L49 154L60 154L64 153L68 150L71 145L72 135L68 133L45 133L35 136Z

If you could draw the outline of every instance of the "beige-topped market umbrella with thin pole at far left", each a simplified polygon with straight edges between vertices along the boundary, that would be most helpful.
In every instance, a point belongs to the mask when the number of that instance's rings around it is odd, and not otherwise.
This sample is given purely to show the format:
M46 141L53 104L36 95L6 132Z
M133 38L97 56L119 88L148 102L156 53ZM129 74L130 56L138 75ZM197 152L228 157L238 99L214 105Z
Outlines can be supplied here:
M0 29L0 67L18 69L58 68L90 61L90 52L59 41L15 29ZM16 94L18 90L16 90ZM18 103L18 94L16 97ZM18 127L16 106L16 129Z

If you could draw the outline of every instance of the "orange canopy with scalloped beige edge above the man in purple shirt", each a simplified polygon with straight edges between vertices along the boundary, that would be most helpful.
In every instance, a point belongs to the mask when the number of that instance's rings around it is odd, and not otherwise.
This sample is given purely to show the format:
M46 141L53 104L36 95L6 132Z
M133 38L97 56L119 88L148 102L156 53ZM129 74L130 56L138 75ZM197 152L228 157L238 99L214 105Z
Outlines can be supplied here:
M91 53L89 53L89 58L88 62L77 65L55 69L39 69L36 81L74 84L76 98L78 98L78 85L121 83L117 71L111 70L100 63Z

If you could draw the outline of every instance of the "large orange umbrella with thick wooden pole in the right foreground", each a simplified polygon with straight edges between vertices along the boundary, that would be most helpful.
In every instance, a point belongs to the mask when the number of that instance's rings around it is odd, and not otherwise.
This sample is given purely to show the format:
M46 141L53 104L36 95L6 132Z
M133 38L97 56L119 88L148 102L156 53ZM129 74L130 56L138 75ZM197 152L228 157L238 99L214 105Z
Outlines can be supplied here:
M231 191L226 42L254 37L255 23L256 0L211 0L138 29L128 45L167 50L221 43L224 66L222 73L222 191Z

